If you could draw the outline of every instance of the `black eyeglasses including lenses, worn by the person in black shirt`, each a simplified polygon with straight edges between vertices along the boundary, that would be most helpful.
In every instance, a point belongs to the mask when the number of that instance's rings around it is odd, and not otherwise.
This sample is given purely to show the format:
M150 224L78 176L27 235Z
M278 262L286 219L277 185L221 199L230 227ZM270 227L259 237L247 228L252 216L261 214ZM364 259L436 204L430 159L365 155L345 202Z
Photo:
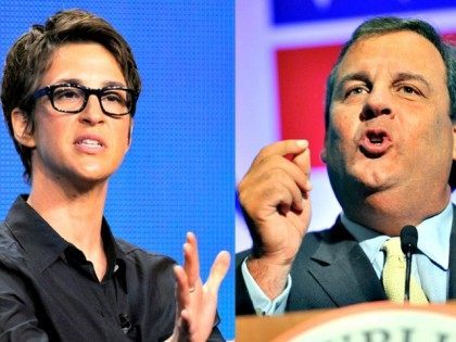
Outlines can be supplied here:
M48 96L55 111L76 114L87 105L89 97L97 96L101 110L111 116L135 113L138 92L124 87L87 88L80 85L61 84L41 88L34 92L34 99Z

